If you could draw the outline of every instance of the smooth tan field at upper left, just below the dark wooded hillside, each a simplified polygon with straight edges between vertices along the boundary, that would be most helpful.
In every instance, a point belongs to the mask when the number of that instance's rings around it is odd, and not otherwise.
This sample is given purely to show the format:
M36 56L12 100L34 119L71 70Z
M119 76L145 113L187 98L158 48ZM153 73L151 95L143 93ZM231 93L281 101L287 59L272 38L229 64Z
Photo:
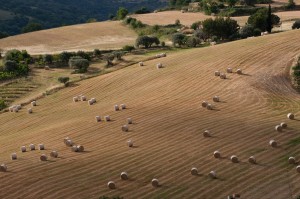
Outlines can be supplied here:
M42 30L0 40L0 48L26 49L30 54L119 49L133 45L137 35L118 21L88 23Z

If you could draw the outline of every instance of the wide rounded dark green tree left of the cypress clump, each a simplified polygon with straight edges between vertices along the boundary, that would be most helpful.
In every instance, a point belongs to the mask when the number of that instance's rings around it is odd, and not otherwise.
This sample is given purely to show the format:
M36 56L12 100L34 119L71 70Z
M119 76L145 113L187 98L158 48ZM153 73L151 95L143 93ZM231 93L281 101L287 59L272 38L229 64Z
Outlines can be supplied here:
M209 35L215 35L222 39L229 39L231 35L234 35L239 30L237 21L223 17L217 17L215 19L206 19L202 23L203 31Z

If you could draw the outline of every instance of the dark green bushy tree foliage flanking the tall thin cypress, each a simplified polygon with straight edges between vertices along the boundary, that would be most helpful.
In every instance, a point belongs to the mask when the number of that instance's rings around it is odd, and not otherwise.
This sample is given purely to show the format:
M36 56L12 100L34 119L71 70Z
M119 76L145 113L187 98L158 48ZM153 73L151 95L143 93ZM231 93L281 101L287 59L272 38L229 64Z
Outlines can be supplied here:
M254 28L259 28L261 31L267 31L268 23L271 21L271 29L274 25L280 22L280 18L277 15L271 14L271 20L269 16L269 9L262 8L248 18L248 24L253 25ZM270 27L269 27L270 28Z

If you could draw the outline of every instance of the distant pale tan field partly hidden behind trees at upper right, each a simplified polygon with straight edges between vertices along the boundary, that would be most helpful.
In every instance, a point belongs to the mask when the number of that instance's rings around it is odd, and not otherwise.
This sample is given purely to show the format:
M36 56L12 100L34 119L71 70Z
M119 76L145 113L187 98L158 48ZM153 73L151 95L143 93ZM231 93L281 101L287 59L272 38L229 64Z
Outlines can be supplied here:
M275 14L277 14L281 18L281 21L300 18L300 11L278 12ZM192 25L196 21L203 21L208 18L214 18L212 16L205 15L200 12L182 13L180 11L165 11L165 12L150 13L150 14L140 14L140 15L132 15L132 17L149 25L174 24L175 20L179 19L181 24L187 26ZM244 26L248 20L248 17L249 16L231 17L231 18L236 20L240 26Z

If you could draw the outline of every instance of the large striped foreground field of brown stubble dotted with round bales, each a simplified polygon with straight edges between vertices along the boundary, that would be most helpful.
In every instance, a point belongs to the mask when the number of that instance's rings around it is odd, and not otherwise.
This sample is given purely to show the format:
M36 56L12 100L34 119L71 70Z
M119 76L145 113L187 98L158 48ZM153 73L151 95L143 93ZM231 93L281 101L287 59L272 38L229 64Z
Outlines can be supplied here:
M300 158L300 95L288 66L299 43L295 30L179 51L160 58L159 70L158 60L146 61L47 96L33 114L28 107L0 114L0 164L7 165L0 172L0 198L295 198L300 174L288 158ZM227 79L214 75L228 67L233 73ZM96 103L73 102L80 94ZM220 102L213 102L215 95ZM201 106L204 100L212 110ZM114 111L115 104L126 109ZM96 122L97 115L111 121ZM133 124L122 132L129 117ZM276 132L281 122L288 127ZM202 135L205 130L210 137ZM85 151L72 152L65 137ZM43 143L45 150L20 152L31 143ZM58 158L50 157L53 150ZM18 159L12 161L14 152ZM48 160L40 161L41 154ZM256 164L248 162L251 156ZM193 167L198 175L191 175ZM160 186L153 187L153 179Z

